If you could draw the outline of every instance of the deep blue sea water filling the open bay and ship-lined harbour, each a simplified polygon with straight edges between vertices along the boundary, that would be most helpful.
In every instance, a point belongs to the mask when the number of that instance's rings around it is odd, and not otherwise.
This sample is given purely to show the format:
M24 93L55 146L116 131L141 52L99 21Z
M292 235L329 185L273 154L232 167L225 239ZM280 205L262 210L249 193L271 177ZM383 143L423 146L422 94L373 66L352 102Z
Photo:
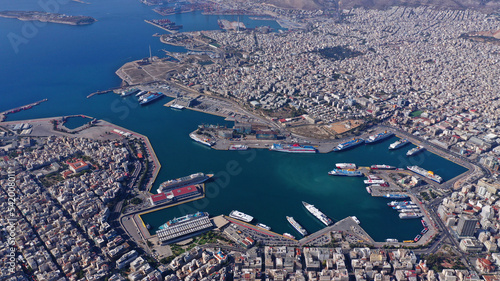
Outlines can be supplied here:
M31 110L9 115L8 120L85 114L147 135L162 164L155 188L164 180L198 171L218 175L219 181L207 184L206 199L144 216L153 228L194 210L218 215L237 209L277 232L297 235L285 216L294 216L309 232L322 226L302 207L304 200L335 220L356 215L375 240L412 239L422 228L418 220L399 220L397 213L385 205L388 200L372 198L366 193L361 178L329 177L326 173L337 162L398 167L416 164L435 171L445 180L465 171L429 152L407 162L404 153L411 146L387 150L395 138L321 155L267 150L215 151L192 142L188 133L200 123L225 123L220 117L165 108L162 105L168 99L144 107L139 106L133 96L106 94L87 99L94 91L118 86L121 81L115 71L128 61L148 56L149 46L153 54L159 56L161 49L184 50L161 44L152 36L162 30L144 20L162 17L139 1L89 1L93 3L0 0L0 10L42 10L40 2L60 3L57 10L53 6L51 11L89 15L98 20L92 25L77 27L0 18L0 111L48 98ZM218 29L218 18L236 20L237 17L204 16L194 12L166 18L182 24L183 31L190 31ZM251 21L245 16L240 20L249 27L278 28L274 22Z

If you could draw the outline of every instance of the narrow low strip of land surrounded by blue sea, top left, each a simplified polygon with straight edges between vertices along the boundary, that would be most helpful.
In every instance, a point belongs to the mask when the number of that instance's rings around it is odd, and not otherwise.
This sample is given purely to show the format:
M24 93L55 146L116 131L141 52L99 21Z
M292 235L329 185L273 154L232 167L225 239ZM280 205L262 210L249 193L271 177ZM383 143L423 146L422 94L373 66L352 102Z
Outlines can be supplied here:
M88 16L68 16L65 14L54 14L38 11L2 11L0 12L0 17L14 18L24 21L33 20L69 25L87 25L97 21L96 19Z

